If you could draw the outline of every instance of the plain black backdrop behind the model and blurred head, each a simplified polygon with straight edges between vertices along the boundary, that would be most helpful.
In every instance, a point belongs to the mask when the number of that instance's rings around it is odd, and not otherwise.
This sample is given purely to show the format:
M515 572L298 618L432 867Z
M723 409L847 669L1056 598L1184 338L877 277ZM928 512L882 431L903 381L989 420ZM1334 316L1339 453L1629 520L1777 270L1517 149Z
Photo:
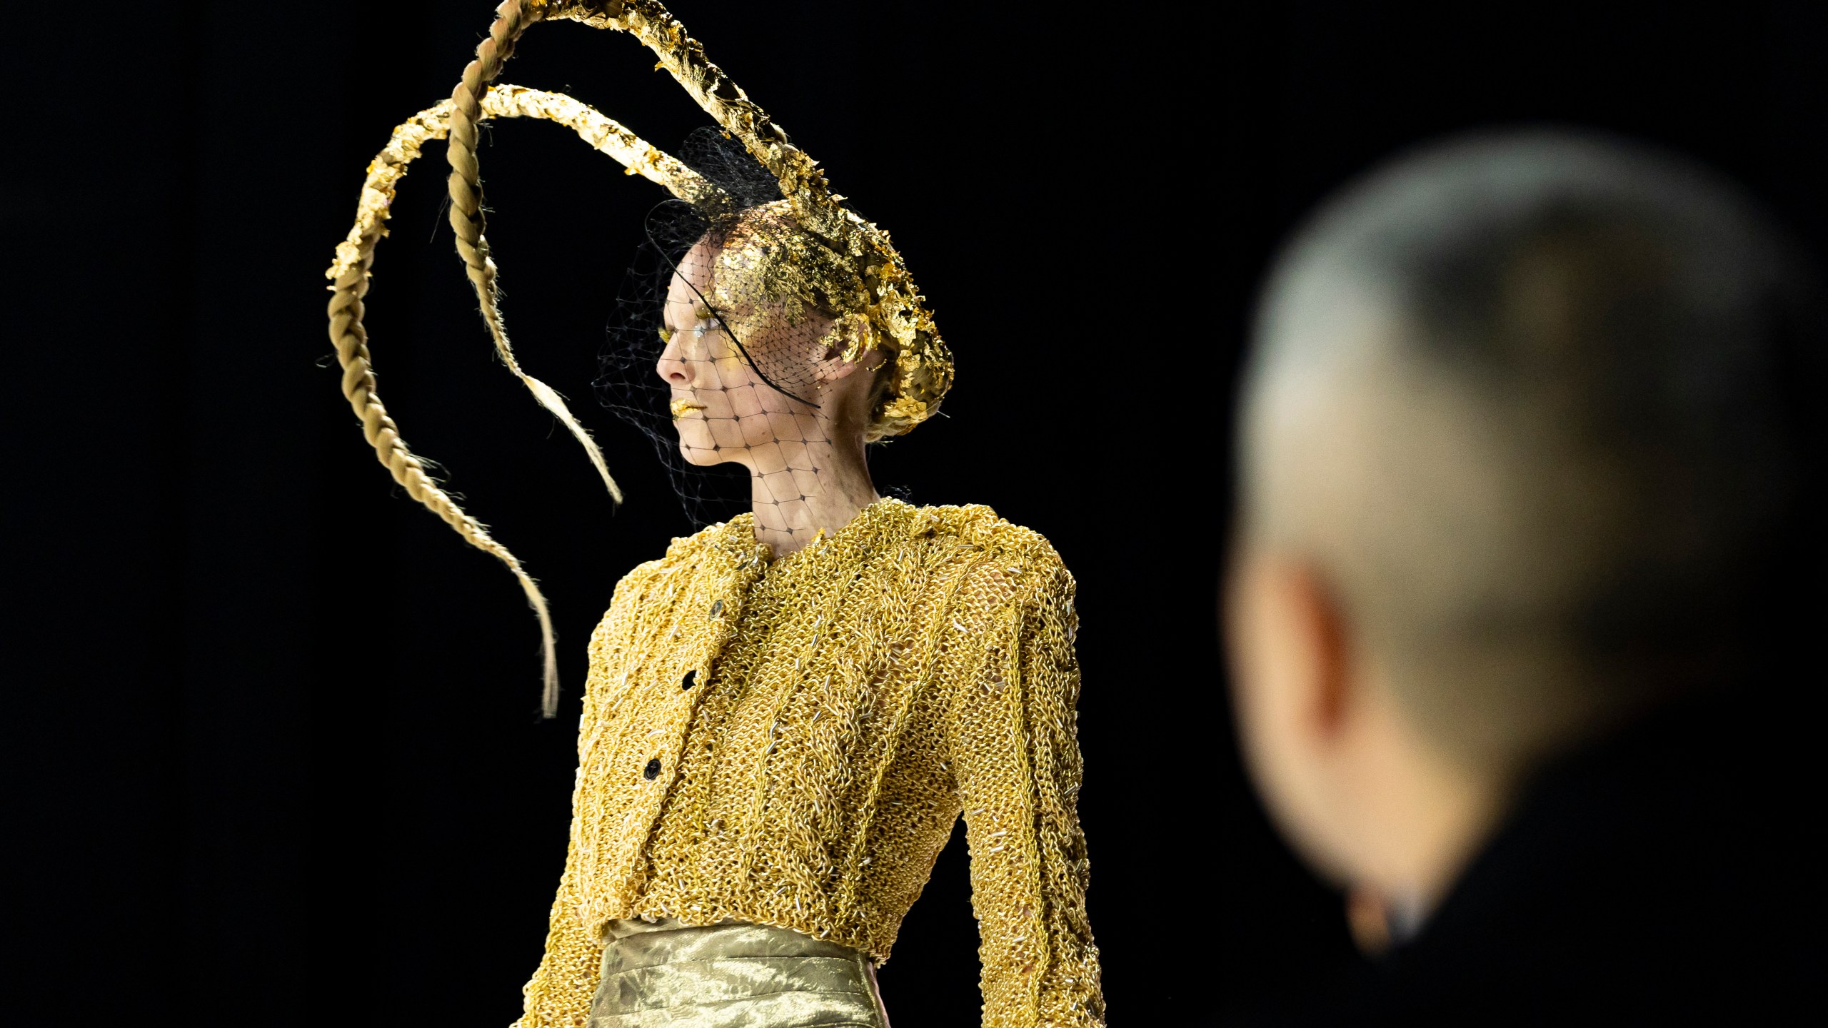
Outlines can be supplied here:
M1243 5L1239 5L1243 7ZM1274 241L1420 139L1594 124L1742 177L1819 249L1828 16L1812 4L675 7L896 241L958 355L949 419L881 448L1080 582L1080 794L1119 1024L1347 960L1338 898L1241 777L1214 633L1228 402ZM1477 15L1466 13L1479 7ZM528 369L494 362L442 227L442 148L369 296L382 395L552 598L569 686L494 560L389 490L327 360L324 267L388 130L448 95L484 2L144 4L9 20L7 1019L506 1024L565 852L583 640L686 529L589 401L658 190L550 124L483 152ZM505 80L673 146L645 51L537 26ZM883 988L972 1023L960 840Z

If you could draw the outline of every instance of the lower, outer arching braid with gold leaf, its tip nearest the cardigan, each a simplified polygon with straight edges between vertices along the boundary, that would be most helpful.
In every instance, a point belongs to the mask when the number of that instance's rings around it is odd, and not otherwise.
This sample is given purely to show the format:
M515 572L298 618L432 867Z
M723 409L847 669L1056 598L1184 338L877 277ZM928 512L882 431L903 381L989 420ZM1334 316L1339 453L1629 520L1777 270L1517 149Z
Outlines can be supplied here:
M539 117L565 124L583 137L585 143L620 161L631 176L643 176L665 187L680 199L696 201L707 194L715 194L715 187L680 161L649 146L627 128L563 93L543 93L539 90L523 90L521 86L495 86L483 97L479 110L495 117ZM367 179L362 183L362 199L356 203L355 227L336 245L336 260L325 273L331 278L331 342L336 346L336 360L344 369L344 397L349 399L349 406L362 419L362 434L367 437L369 446L375 448L375 457L388 466L388 472L393 474L393 479L400 483L408 496L442 518L464 541L508 565L508 571L521 584L521 591L526 593L526 602L539 615L539 644L545 671L539 708L545 717L552 717L558 713L559 673L547 598L521 567L521 562L505 545L495 541L481 521L466 514L448 492L439 488L426 472L424 461L415 457L406 441L400 439L399 424L388 415L388 408L375 391L375 362L367 351L367 329L362 327L362 315L366 313L362 298L367 296L375 247L388 234L388 214L393 207L395 190L400 179L406 177L408 165L419 157L420 146L428 141L446 137L450 121L450 101L415 113L393 130L388 146L369 163Z

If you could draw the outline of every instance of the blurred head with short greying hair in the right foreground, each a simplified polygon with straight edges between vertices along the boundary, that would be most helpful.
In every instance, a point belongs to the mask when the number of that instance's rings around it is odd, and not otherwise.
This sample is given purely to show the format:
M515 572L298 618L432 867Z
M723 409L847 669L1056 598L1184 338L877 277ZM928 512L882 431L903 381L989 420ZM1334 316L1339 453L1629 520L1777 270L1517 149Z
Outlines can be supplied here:
M1437 145L1292 238L1227 616L1307 860L1426 913L1534 768L1813 633L1813 304L1737 188L1600 135Z

